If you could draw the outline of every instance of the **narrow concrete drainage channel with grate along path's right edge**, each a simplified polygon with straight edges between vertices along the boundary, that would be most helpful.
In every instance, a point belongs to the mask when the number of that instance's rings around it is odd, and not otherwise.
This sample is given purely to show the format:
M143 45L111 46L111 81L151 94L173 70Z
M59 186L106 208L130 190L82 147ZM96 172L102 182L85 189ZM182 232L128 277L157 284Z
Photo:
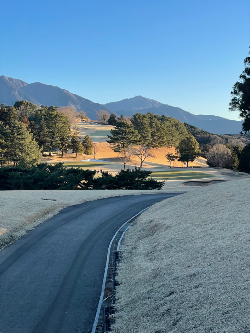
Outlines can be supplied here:
M111 329L111 325L113 323L111 315L114 314L115 304L115 287L118 285L116 282L117 264L121 259L119 252L120 243L123 235L130 227L133 220L148 208L149 207L141 210L138 214L134 215L127 222L125 222L120 229L117 230L109 244L101 297L91 333L105 333Z

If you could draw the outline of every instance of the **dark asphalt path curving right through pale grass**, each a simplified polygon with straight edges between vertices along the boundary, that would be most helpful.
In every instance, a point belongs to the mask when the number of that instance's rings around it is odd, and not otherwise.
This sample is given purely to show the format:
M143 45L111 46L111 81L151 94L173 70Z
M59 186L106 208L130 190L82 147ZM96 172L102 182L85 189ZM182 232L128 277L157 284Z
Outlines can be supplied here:
M142 209L177 193L70 206L0 252L1 333L90 333L109 242Z

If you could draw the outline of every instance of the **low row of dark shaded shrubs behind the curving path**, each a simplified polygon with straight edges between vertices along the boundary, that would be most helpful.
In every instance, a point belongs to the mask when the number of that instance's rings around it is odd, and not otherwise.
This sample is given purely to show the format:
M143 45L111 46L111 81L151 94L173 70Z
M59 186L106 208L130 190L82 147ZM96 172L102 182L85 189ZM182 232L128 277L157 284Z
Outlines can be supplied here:
M152 171L126 169L115 175L100 170L65 168L63 163L37 166L3 166L0 168L0 190L34 189L160 189L164 181L150 177Z

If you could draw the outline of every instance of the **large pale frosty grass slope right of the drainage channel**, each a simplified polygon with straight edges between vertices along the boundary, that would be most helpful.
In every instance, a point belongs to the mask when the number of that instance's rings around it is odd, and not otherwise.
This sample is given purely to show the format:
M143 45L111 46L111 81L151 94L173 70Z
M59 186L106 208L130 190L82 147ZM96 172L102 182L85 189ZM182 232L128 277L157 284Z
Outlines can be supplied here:
M250 178L161 201L121 246L116 333L250 331Z

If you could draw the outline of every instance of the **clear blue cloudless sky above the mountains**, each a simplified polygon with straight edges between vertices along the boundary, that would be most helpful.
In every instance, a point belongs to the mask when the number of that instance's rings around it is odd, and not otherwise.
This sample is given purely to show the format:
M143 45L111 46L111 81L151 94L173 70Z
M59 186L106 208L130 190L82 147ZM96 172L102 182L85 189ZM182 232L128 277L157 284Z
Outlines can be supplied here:
M3 1L0 75L239 120L228 104L249 37L249 0Z

